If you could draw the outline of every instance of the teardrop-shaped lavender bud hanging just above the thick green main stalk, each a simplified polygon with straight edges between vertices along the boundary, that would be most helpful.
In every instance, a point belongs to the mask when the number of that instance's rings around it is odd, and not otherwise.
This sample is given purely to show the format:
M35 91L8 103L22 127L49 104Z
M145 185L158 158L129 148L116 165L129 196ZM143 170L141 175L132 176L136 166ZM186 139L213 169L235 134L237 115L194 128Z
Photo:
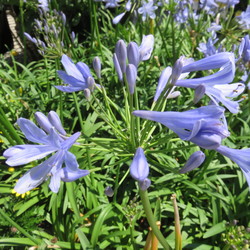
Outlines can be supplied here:
M134 159L130 165L130 174L137 181L144 181L149 174L149 166L144 151L137 148Z

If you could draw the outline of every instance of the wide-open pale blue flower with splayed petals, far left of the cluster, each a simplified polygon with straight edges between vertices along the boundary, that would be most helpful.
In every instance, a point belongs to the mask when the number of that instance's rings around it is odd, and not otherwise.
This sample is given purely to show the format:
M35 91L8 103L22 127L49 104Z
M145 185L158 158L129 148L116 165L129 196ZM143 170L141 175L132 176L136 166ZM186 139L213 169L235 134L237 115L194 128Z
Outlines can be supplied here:
M36 119L44 130L25 118L19 118L17 124L29 141L39 144L16 145L5 150L3 156L7 158L6 164L9 166L19 166L54 153L43 163L25 173L18 180L14 190L23 194L50 178L49 187L57 193L61 180L71 182L89 174L88 170L79 169L76 157L68 151L76 143L80 133L77 132L70 137L64 136L65 131L53 111L47 119L39 112L36 114ZM63 164L65 167L62 167Z

